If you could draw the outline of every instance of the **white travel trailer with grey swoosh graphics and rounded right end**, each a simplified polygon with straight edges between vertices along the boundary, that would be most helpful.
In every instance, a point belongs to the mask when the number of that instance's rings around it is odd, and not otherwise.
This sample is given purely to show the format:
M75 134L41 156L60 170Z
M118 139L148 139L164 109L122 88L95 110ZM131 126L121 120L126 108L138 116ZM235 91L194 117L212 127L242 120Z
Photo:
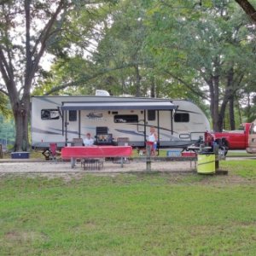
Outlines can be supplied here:
M145 147L150 126L160 148L185 148L210 131L193 102L127 96L33 96L32 148L58 148L90 132L96 143Z

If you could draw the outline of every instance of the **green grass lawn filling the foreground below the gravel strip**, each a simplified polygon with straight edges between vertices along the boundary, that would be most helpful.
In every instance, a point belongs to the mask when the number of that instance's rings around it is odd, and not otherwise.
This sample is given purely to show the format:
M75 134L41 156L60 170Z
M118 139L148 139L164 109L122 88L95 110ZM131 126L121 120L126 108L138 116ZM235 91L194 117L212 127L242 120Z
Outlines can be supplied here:
M256 255L255 160L229 175L0 177L0 255Z

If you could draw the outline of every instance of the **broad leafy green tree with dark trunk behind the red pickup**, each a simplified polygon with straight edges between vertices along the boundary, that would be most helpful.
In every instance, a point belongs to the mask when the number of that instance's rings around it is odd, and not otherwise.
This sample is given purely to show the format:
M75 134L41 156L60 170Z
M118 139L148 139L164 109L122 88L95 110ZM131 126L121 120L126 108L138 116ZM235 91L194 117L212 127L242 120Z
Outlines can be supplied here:
M183 12L168 3L157 5L152 15L157 19L151 35L152 50L159 60L155 62L172 79L211 102L213 129L221 131L227 104L245 87L245 75L254 73L253 28L230 3L188 5L183 6ZM186 9L191 10L190 15Z

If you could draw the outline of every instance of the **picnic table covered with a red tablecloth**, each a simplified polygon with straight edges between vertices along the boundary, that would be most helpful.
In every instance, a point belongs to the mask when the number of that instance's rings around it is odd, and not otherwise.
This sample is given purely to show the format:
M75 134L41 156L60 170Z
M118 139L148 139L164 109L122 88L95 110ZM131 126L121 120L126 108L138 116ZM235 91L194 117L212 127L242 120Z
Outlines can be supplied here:
M101 158L116 158L121 159L121 167L124 165L124 159L131 156L131 146L75 146L64 147L61 149L61 158L63 160L71 160L71 167L75 166L77 158L83 160L101 159Z

